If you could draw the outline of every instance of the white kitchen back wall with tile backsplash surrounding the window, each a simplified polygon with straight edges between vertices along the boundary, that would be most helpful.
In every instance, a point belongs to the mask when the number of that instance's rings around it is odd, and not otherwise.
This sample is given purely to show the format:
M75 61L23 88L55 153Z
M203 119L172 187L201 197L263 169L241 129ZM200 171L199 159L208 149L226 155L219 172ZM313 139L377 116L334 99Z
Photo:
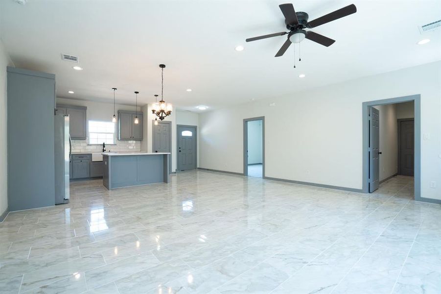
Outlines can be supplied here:
M67 104L67 105L77 105L77 106L86 106L87 107L87 121L112 121L112 116L114 113L114 104L113 103L104 103L104 102L94 102L94 101L85 101L85 100L75 100L75 99L66 99L66 98L57 98L57 104ZM115 114L117 114L118 110L129 110L135 111L135 106L131 105L115 105ZM141 108L138 107L138 111L141 111ZM144 114L145 118L145 114ZM117 127L117 126L116 126ZM111 151L140 151L141 150L141 142L139 141L131 141L131 140L118 140L118 134L116 129L116 145L108 145L106 146L107 150ZM102 147L100 145L88 145L88 140L72 140L72 152L101 152Z

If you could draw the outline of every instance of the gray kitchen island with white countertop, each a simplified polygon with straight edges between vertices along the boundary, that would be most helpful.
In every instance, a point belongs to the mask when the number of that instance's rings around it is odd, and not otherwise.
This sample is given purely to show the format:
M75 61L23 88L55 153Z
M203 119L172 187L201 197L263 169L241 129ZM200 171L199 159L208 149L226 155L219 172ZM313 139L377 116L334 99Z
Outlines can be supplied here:
M103 185L109 190L168 183L170 153L103 152Z

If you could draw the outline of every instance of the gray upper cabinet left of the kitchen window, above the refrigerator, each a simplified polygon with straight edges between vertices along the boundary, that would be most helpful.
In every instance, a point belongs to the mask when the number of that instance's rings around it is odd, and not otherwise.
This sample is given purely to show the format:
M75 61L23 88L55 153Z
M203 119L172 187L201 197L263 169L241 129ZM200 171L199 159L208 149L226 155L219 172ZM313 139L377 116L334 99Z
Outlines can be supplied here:
M57 104L57 113L69 115L69 133L71 139L86 140L87 107Z

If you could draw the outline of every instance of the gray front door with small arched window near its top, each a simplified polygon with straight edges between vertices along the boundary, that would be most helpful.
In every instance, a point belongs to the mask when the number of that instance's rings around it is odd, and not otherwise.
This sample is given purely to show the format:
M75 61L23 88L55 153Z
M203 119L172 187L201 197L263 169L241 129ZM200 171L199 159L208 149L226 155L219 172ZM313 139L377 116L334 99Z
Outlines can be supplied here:
M196 169L196 126L178 125L178 170Z

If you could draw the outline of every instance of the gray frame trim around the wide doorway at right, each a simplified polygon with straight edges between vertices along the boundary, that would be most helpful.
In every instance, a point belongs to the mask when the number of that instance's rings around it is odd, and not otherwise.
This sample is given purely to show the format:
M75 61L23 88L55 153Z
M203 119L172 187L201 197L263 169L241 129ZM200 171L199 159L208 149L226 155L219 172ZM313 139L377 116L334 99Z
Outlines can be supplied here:
M369 193L369 107L375 105L395 104L401 102L414 101L414 122L415 122L415 157L414 157L414 180L415 191L414 199L416 201L432 202L433 199L421 197L421 95L410 95L397 98L388 98L381 100L373 100L362 103L362 117L363 117L363 178L362 178L362 192Z

